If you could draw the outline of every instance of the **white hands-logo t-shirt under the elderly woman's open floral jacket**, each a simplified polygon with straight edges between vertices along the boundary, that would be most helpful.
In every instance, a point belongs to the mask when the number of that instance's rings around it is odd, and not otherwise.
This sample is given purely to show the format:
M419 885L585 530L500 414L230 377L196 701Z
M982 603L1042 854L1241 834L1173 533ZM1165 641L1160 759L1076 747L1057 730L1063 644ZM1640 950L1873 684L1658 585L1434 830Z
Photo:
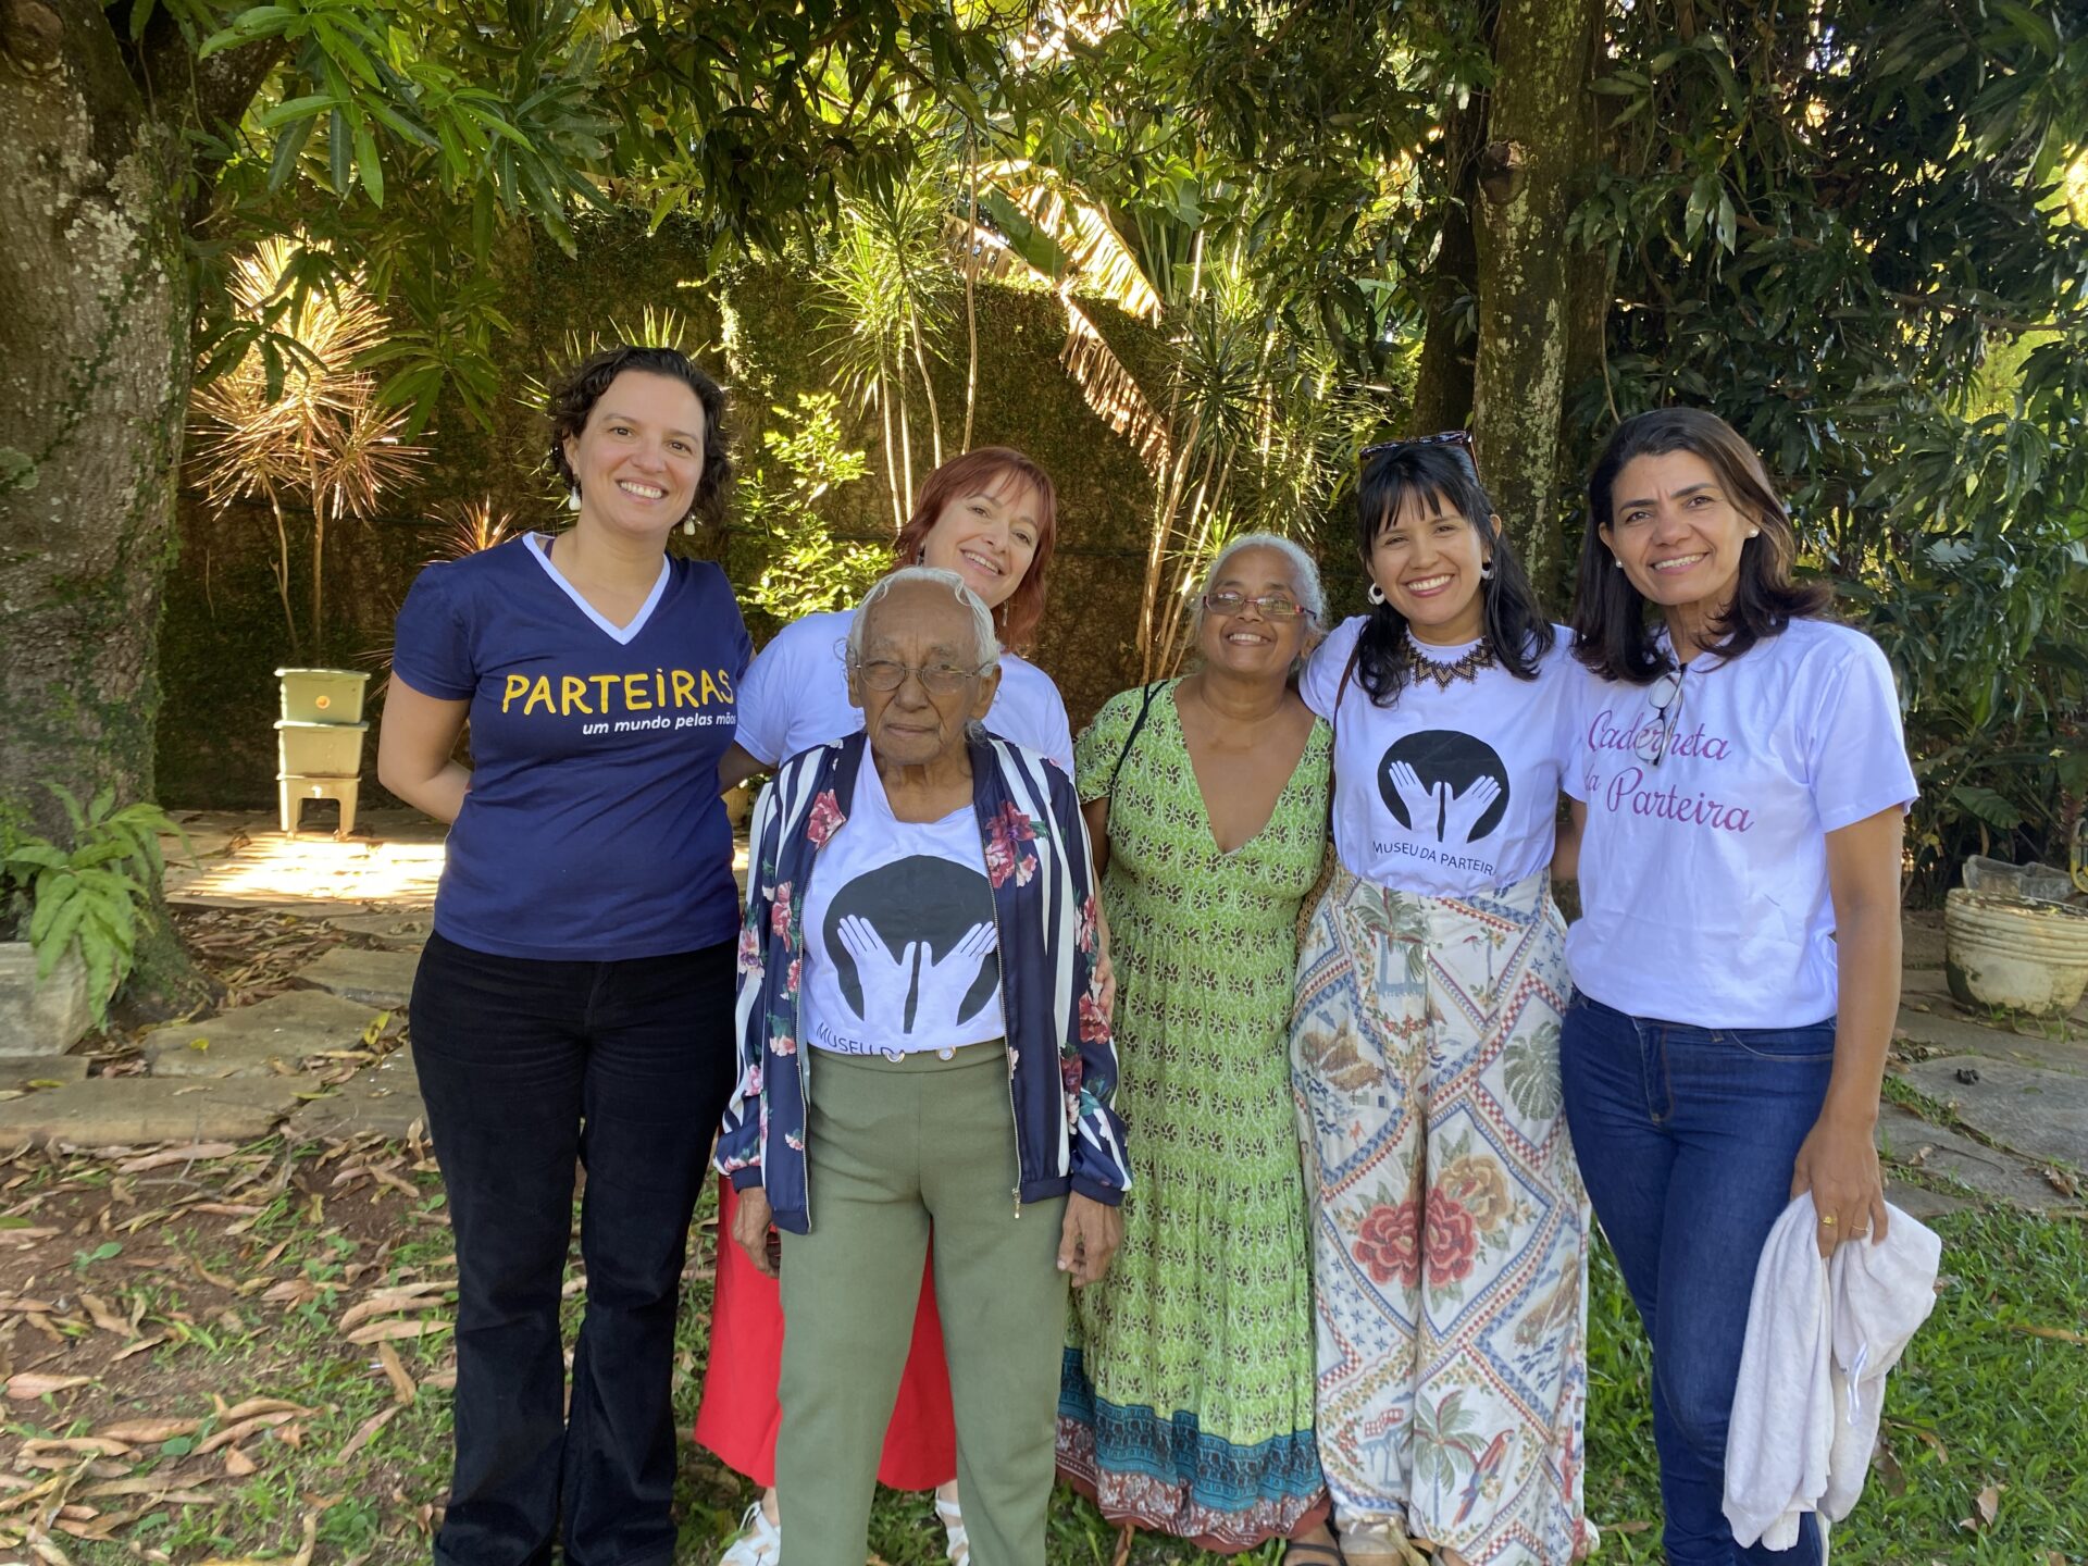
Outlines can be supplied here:
M1002 1038L994 892L979 821L896 821L864 756L804 900L804 1040L898 1059Z

